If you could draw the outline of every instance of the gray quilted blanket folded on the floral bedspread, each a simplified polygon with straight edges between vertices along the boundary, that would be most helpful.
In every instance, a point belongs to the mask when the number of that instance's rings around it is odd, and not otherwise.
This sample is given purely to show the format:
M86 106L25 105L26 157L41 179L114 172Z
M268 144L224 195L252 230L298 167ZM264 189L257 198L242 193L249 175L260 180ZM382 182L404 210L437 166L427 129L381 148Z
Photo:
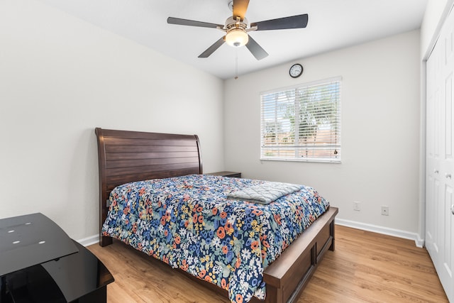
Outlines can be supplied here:
M270 204L280 197L299 191L301 188L303 188L303 185L267 181L231 192L227 194L227 198Z

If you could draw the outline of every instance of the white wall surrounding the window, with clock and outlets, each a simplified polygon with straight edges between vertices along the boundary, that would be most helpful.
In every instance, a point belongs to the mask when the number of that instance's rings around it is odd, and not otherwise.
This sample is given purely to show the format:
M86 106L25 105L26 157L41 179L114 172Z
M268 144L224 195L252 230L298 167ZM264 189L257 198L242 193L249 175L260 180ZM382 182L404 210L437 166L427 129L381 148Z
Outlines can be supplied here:
M338 219L418 233L419 43L411 31L298 60L297 79L289 62L226 80L226 169L313 186L339 207ZM260 162L260 92L335 76L343 77L342 163Z

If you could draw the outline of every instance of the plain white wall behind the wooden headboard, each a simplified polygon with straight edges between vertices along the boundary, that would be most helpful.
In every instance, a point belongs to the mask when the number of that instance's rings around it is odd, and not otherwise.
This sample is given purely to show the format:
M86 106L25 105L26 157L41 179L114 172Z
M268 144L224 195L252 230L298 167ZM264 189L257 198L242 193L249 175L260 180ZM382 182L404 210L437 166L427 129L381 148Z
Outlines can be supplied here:
M223 169L223 82L34 0L0 1L0 218L98 233L94 128L198 134Z

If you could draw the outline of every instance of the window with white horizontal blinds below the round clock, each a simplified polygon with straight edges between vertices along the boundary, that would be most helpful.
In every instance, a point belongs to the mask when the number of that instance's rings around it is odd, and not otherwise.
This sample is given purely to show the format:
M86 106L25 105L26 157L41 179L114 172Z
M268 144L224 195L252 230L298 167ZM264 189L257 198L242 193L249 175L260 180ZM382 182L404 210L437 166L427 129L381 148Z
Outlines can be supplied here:
M260 94L260 160L341 162L341 77Z

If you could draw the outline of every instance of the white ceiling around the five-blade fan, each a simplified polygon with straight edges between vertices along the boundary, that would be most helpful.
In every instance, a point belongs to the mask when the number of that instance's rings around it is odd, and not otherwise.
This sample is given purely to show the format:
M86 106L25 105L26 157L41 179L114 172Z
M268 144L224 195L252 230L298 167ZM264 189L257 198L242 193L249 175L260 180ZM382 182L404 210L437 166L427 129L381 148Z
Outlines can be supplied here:
M229 0L40 0L96 26L134 40L221 79L296 62L329 50L420 28L427 0L250 0L251 23L309 14L306 28L250 35L268 57L256 60L245 47L226 44L201 59L223 36L214 28L167 24L167 17L223 24Z

